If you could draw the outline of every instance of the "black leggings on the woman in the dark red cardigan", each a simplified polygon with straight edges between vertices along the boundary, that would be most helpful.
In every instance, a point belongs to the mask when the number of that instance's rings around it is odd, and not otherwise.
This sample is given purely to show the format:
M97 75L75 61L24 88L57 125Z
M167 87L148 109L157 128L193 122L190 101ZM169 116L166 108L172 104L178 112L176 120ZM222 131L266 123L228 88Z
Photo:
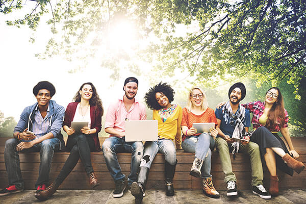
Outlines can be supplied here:
M70 150L70 155L66 160L60 174L55 179L55 183L62 184L69 173L77 165L79 158L85 167L87 175L93 172L90 159L90 151L94 149L94 140L90 135L70 135L67 140L67 149Z

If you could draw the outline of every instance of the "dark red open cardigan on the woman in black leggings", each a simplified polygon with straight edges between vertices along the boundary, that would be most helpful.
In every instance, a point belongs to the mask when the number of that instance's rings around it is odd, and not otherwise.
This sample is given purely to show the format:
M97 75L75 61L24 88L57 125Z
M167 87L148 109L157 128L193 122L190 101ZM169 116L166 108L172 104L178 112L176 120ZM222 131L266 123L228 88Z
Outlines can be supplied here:
M74 118L75 111L77 110L79 102L72 102L68 104L67 109L65 111L65 119L63 122L63 126L67 125L68 127L71 126L71 121ZM101 131L101 118L102 113L101 110L98 109L96 106L90 106L90 129L96 129L96 133L90 134L90 136L94 140L94 151L101 151L100 142L98 138L98 133Z

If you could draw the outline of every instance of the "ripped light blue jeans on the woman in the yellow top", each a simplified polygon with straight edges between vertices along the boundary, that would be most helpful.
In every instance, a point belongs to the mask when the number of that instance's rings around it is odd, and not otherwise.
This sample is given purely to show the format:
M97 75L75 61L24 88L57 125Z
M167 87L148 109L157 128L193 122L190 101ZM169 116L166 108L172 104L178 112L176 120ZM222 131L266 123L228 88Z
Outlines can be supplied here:
M176 164L176 151L172 140L158 139L158 141L150 141L144 144L144 153L140 167L150 168L158 152L164 154L165 160L170 165Z

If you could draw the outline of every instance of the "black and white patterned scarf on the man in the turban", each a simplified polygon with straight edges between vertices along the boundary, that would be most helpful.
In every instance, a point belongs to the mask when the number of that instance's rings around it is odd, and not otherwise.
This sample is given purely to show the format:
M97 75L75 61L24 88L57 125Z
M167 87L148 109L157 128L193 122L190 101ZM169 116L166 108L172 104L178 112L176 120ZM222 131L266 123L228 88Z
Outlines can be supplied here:
M232 138L241 138L243 139L243 136L245 134L244 129L244 115L245 115L245 108L239 104L239 108L236 112L236 114L233 113L230 101L227 101L226 104L222 108L223 118L225 120L226 124L230 124L232 126L235 126ZM232 154L235 154L239 151L239 142L233 142L232 143L233 152Z

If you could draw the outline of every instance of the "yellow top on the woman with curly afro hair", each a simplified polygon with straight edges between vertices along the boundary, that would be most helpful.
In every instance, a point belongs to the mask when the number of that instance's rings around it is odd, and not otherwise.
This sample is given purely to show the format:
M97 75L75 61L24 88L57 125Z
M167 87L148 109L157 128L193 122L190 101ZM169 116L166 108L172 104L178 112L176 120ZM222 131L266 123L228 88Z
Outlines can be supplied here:
M175 139L176 147L180 147L182 143L182 107L177 105L175 111L165 122L163 122L158 112L158 110L153 110L153 119L158 121L158 136L172 141Z

